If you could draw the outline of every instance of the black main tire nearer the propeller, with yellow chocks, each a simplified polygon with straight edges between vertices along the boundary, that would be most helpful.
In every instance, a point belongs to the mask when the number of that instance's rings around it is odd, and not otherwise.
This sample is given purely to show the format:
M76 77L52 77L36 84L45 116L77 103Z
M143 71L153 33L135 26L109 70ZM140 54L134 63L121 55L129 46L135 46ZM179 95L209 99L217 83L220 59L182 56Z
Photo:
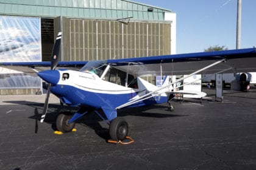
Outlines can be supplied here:
M68 124L68 121L71 119L72 115L64 113L64 114L60 114L57 117L56 120L56 127L58 129L58 131L60 132L70 132L72 131L72 129L74 129L74 126L76 125L75 122Z

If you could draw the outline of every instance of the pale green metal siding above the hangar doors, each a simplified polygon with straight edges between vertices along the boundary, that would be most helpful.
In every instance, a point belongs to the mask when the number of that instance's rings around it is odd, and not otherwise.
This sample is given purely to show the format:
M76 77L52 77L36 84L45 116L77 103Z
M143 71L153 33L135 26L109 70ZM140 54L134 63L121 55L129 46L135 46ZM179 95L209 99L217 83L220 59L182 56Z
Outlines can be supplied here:
M164 21L165 12L171 11L124 0L0 0L1 15Z

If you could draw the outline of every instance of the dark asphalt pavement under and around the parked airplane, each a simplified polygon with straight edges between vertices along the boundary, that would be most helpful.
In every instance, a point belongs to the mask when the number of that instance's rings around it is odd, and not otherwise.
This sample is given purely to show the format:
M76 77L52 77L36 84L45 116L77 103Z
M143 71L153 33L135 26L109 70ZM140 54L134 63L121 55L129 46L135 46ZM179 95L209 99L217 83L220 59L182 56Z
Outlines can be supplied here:
M119 110L132 144L107 143L108 125L89 114L76 132L54 134L60 106L51 97L40 123L44 95L1 96L0 169L256 169L256 89L204 89L207 100ZM51 95L52 96L52 95Z

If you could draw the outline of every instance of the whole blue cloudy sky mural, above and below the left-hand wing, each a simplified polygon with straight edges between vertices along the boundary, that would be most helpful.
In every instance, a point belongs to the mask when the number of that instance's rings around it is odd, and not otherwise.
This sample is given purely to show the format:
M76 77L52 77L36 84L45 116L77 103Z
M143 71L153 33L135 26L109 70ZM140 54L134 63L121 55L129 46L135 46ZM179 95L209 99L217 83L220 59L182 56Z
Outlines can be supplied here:
M41 61L40 18L0 16L0 62ZM0 68L0 89L41 87L35 75Z

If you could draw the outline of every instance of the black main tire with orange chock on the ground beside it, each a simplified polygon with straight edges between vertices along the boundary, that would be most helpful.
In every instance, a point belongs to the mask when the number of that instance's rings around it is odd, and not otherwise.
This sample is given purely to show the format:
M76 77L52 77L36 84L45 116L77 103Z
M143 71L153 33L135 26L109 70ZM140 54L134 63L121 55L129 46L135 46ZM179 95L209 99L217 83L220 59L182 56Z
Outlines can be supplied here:
M128 134L128 123L123 118L116 117L110 124L109 134L112 140L124 140Z

